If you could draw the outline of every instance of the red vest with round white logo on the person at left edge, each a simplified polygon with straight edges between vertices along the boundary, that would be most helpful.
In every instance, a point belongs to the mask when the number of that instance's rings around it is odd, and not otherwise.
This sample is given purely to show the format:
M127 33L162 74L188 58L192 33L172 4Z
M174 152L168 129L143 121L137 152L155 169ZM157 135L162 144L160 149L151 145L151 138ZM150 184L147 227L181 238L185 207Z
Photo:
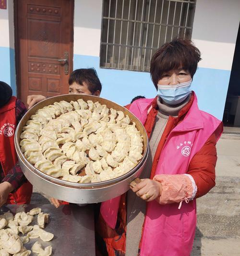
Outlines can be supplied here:
M16 130L16 97L0 108L0 163L4 175L18 162L15 146L14 134ZM29 204L33 186L31 183L24 183L16 192L9 194L8 204Z

